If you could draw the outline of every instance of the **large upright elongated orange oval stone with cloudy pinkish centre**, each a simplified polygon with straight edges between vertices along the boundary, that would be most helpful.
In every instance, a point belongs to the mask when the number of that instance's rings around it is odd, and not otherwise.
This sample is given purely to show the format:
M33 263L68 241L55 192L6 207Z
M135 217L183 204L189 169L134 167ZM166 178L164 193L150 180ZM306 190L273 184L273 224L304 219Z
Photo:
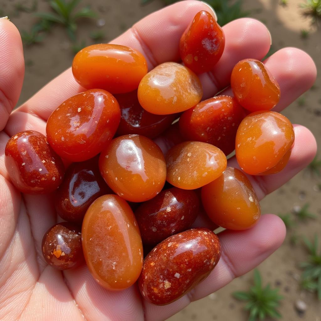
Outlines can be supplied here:
M108 290L133 285L143 265L137 221L125 200L103 195L87 210L82 223L82 247L89 271Z

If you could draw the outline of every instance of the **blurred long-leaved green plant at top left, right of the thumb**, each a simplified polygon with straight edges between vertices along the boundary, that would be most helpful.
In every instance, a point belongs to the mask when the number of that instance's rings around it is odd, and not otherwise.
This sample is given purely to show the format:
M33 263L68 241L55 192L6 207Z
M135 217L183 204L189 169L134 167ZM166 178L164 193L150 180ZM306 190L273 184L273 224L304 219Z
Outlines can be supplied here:
M75 11L76 6L82 0L51 0L49 2L55 13L39 12L35 15L44 21L61 24L66 28L69 38L76 41L75 31L77 30L77 20L79 18L95 18L94 13L88 6L83 7L79 11Z

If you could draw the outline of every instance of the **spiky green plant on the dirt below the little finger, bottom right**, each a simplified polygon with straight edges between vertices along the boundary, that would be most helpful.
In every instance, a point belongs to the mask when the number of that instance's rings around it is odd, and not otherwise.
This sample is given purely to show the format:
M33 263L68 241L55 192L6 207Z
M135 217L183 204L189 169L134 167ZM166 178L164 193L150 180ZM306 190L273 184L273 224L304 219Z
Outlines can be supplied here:
M279 289L271 289L270 283L262 287L262 278L257 269L254 270L254 286L249 291L234 292L233 296L241 301L248 301L244 309L249 311L248 321L265 320L266 317L281 318L277 311L280 300Z

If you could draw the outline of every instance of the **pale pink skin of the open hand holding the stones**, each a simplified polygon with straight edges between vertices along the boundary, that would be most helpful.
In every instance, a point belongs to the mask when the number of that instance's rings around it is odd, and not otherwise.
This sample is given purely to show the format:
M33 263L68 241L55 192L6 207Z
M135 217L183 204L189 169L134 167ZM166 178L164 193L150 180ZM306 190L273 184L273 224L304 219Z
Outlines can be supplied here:
M136 23L113 43L141 51L149 70L165 61L178 61L179 39L200 10L210 9L199 1L173 4ZM173 21L176 28L172 28ZM233 65L239 60L249 56L262 59L270 48L269 32L259 21L239 19L228 23L223 30L226 44L221 60L210 73L200 76L204 99L228 86ZM71 271L54 270L41 255L44 233L59 221L51 196L17 192L4 166L4 148L10 136L19 131L33 129L44 134L51 112L84 89L68 69L11 113L22 86L23 53L18 30L4 19L0 19L0 57L0 286L3 293L0 318L77 321L83 320L83 315L86 320L98 321L164 320L191 301L203 298L253 269L282 244L285 227L282 220L272 214L263 215L252 229L224 231L219 235L223 251L216 268L194 290L165 307L143 301L137 285L116 293L103 289L84 265ZM281 87L276 111L307 91L316 78L312 59L299 49L281 49L265 64ZM59 95L53 94L56 92ZM231 95L231 90L227 89L224 94ZM259 199L282 186L315 156L316 142L311 132L299 125L295 125L294 130L295 142L285 169L264 177L249 176ZM161 139L158 141L166 150L167 144ZM236 160L231 159L228 166L237 167ZM196 219L194 226L212 228L203 216Z

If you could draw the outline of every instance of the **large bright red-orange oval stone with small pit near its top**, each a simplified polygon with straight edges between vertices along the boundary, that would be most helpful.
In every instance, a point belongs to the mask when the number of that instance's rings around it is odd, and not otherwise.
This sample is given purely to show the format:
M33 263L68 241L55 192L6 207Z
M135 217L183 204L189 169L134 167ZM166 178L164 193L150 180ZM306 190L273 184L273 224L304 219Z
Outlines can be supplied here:
M88 90L67 99L50 115L48 142L62 158L88 160L113 138L119 121L115 97L104 90Z

